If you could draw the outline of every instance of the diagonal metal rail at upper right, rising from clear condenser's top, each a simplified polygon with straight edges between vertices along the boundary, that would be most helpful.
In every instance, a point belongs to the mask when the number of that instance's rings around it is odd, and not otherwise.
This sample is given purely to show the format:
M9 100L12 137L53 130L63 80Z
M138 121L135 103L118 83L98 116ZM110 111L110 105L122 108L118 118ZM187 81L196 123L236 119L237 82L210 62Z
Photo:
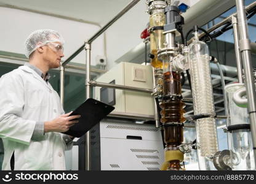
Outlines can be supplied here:
M249 11L250 9L254 8L256 6L256 1L252 2L251 4L249 4L245 11ZM220 23L217 23L216 25L212 26L212 28L207 29L206 31L208 33L211 33L212 31L220 28L221 26L225 25L225 23L227 23L228 21L231 21L231 17L236 16L237 13L233 13L232 15L230 15L229 17L225 18L224 20L220 21ZM202 32L201 34L198 34L198 38L201 39L203 36L205 36L206 33ZM193 41L193 37L188 41L188 45L191 44L191 42Z

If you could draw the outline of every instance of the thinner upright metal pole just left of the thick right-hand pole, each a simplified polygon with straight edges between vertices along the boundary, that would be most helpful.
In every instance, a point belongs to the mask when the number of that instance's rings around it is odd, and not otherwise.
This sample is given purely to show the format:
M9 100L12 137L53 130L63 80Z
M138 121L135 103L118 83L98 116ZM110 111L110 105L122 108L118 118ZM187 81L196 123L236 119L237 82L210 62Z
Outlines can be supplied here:
M239 52L239 37L238 37L238 19L232 17L233 32L234 32L234 51L236 53L236 67L238 69L238 82L242 83L242 61Z

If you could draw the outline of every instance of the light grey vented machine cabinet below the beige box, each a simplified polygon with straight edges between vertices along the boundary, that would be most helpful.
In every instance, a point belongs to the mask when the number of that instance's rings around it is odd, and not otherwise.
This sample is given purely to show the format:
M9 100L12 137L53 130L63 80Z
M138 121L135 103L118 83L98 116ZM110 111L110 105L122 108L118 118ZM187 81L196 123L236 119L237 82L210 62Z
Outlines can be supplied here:
M164 161L161 130L154 125L105 119L90 132L92 171L158 171ZM77 143L79 170L84 170L84 137Z

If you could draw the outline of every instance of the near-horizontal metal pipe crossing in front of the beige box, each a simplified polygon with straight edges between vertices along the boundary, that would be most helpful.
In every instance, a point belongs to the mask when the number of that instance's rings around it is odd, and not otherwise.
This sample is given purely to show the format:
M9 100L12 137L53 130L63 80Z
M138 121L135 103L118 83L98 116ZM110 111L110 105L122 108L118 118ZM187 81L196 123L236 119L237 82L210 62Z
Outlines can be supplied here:
M130 91L138 91L143 93L153 93L153 91L150 89L135 88L132 86L116 85L111 83L103 83L103 82L97 82L95 80L90 80L88 83L89 85L92 85L92 86L98 86L98 87L104 87L104 88L114 88L118 90L130 90Z

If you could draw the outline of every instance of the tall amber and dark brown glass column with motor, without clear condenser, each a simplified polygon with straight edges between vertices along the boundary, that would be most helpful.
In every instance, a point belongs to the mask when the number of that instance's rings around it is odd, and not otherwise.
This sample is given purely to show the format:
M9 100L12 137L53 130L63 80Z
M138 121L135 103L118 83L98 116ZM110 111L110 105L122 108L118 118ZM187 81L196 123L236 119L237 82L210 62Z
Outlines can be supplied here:
M182 101L182 85L180 72L173 61L180 63L181 47L175 42L175 35L180 34L183 17L179 15L177 6L167 1L148 1L150 13L150 47L151 65L154 67L156 86L154 95L159 99L161 107L161 123L164 131L165 162L162 170L183 170L184 152L180 150L183 142L183 123L185 110ZM179 56L179 59L175 59ZM161 75L159 75L161 74Z

